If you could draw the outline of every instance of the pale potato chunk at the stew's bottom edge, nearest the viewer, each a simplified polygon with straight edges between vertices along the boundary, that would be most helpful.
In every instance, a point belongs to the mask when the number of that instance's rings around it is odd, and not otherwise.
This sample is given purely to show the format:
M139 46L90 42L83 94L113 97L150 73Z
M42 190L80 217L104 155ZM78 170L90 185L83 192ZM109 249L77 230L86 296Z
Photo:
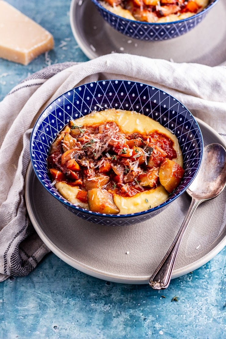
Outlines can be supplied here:
M106 190L93 188L87 194L89 210L100 213L119 213L118 207L115 205L112 196Z

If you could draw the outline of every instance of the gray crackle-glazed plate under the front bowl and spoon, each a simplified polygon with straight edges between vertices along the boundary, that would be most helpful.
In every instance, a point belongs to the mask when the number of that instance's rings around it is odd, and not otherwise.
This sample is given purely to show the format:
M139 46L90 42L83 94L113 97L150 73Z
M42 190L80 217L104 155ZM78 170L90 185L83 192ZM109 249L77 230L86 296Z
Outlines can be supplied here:
M224 140L197 119L204 145ZM35 194L34 194L35 192ZM29 217L44 243L59 258L91 276L148 283L188 210L186 193L156 217L132 226L101 226L67 211L41 185L30 165L25 184ZM226 189L195 212L181 244L172 278L187 274L213 258L226 244Z

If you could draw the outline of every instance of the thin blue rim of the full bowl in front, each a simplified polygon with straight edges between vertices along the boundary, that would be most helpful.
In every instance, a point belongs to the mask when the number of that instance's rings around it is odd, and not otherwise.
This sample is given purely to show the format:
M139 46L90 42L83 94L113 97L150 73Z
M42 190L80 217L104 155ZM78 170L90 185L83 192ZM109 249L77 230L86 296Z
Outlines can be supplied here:
M149 85L149 84L146 84L146 83L143 83L143 82L139 82L139 81L132 81L132 80L123 80L123 79L107 79L107 80L98 80L98 81L95 81L95 83L101 83L101 82L110 82L110 81L118 81L118 82L123 82L123 81L130 81L131 83L138 83L138 84L143 84L145 86L150 86L150 87L154 87L155 89L157 89L158 91L160 92L164 92L165 94L169 95L170 97L176 99L175 97L173 97L171 94L163 91L162 89L158 88L158 87L155 87L155 86L152 86L152 85ZM187 109L187 111L189 112L189 114L191 115L191 117L194 119L194 121L196 122L196 125L197 125L197 128L200 132L200 135L201 135L201 149L200 149L200 152L201 152L201 157L200 157L200 162L199 162L199 166L198 168L196 169L196 173L194 174L193 178L191 179L191 181L189 182L189 184L187 184L183 190L178 193L176 196L174 196L173 198L167 200L167 201L164 201L163 203L161 203L160 205L156 206L156 207L153 207L153 208L150 208L149 210L145 210L145 211L141 211L141 212L137 212L137 213L130 213L130 214L105 214L105 213L100 213L100 212L92 212L92 211L89 211L89 210L85 210L81 207L78 207L78 206L75 206L73 204L70 204L69 202L66 201L66 199L64 198L64 200L62 200L59 196L55 195L53 192L49 191L48 188L44 185L43 181L41 180L41 178L38 176L38 173L36 171L36 168L34 166L34 163L33 163L33 157L32 157L32 141L33 141L33 134L34 134L34 131L35 131L35 128L36 128L36 125L38 124L39 122L39 119L41 118L42 114L46 111L46 109L51 106L53 104L53 102L55 102L56 100L58 100L58 98L61 98L63 97L65 94L67 94L68 92L70 91L74 91L75 89L79 88L79 87L83 87L83 86L86 86L86 85L89 85L91 83L93 83L94 81L91 81L91 82L88 82L88 83L85 83L83 85L79 85L79 86L76 86L76 87L73 87L71 89L69 89L68 91L66 91L65 93L61 94L59 97L55 98L48 106L46 106L42 113L39 115L37 121L35 122L35 125L32 129L32 133L31 133L31 136L30 136L30 159L31 159L31 162L32 162L32 166L33 166L33 169L34 169L34 172L36 174L36 177L38 178L38 180L41 182L41 184L43 185L43 187L54 197L56 198L59 202L61 202L63 205L66 205L68 208L70 209L73 209L75 211L78 211L78 212L81 212L81 213L85 213L85 214L88 214L88 215L93 215L93 216L98 216L100 218L104 217L104 218L132 218L132 217L136 217L136 216L140 216L140 215L144 215L144 214L148 214L150 212L154 212L154 211L157 211L157 210L161 210L162 208L165 208L165 206L167 206L169 203L171 203L172 201L174 201L175 199L177 199L179 196L181 196L186 190L187 188L189 187L189 185L192 183L192 181L194 180L194 178L197 176L198 172L199 172L199 169L200 169L200 166L202 164L202 160L203 160L203 148L204 148L204 142L203 142L203 136L202 136L202 132L201 132L201 129L199 127L199 124L197 122L197 120L194 118L194 116L192 115L192 113L189 111L189 109L184 105L182 104L181 101L179 101L178 99L176 99L181 105L184 106L184 108ZM90 112L91 113L91 112ZM85 115L88 115L85 114Z

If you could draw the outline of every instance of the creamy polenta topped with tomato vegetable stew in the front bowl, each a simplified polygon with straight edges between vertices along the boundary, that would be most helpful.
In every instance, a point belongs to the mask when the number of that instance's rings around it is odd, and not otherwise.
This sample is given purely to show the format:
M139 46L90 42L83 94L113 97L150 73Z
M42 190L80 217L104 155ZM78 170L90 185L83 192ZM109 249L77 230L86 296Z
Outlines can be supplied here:
M65 199L106 214L161 204L184 174L174 134L147 116L114 108L70 121L53 142L47 163Z

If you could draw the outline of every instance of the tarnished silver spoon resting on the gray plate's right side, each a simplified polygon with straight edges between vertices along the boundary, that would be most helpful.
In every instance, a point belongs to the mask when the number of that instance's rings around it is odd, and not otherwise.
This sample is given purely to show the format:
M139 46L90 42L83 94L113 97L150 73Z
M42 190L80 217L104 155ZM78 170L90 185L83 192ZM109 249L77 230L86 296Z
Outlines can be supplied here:
M173 240L165 257L149 279L149 285L155 290L169 286L179 247L185 230L201 202L217 197L226 185L226 151L220 144L214 143L204 147L200 170L186 192L191 197L189 210L180 230Z

